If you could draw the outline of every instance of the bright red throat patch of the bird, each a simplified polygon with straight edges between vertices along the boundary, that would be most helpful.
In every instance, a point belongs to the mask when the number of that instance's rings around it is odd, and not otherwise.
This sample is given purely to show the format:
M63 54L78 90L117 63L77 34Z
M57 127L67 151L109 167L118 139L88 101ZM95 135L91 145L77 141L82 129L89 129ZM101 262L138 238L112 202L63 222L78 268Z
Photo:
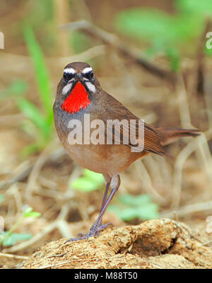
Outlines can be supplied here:
M72 114L78 112L81 108L85 109L88 105L90 105L90 100L86 88L80 81L78 81L71 93L69 93L69 96L61 105L61 108Z

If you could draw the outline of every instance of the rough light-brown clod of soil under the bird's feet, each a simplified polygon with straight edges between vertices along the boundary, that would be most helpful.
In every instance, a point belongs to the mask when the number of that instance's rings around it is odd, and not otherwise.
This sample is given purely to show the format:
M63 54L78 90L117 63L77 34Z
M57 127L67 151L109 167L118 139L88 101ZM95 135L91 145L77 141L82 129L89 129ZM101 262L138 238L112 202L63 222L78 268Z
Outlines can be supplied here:
M182 222L146 221L97 238L42 246L21 268L212 268L212 249Z

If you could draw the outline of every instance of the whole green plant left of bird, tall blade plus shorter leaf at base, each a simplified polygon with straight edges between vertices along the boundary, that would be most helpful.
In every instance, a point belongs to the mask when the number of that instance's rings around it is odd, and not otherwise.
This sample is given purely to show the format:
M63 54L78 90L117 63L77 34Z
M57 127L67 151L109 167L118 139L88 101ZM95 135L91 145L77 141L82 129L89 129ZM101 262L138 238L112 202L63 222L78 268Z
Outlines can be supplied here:
M25 98L18 100L18 108L25 114L25 116L33 122L37 127L38 132L32 125L26 125L28 133L34 132L34 138L36 138L35 144L28 147L23 153L30 154L37 150L47 146L52 135L53 126L53 109L52 109L52 91L50 86L50 78L45 64L45 57L42 54L42 50L35 39L32 28L29 25L24 29L25 42L30 53L30 57L33 61L33 67L35 70L35 80L37 82L37 89L42 102L43 114L40 110L30 101Z

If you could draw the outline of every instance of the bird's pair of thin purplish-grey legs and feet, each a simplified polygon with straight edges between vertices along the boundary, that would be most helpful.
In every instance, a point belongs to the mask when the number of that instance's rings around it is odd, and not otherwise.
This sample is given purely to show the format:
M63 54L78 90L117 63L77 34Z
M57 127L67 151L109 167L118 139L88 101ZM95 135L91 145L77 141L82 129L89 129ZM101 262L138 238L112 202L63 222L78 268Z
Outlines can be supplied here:
M107 191L110 187L110 184L111 184L111 187L112 187L112 190L110 192L110 195L109 197L107 198ZM108 224L105 224L105 225L102 225L102 216L103 214L105 213L108 205L110 204L110 202L112 201L112 198L114 197L114 194L117 192L118 188L119 188L119 185L120 185L120 177L118 174L114 174L112 175L112 179L111 179L111 183L109 185L106 186L106 189L105 189L105 195L103 197L103 201L102 201L102 208L100 210L100 214L98 216L98 219L96 219L95 223L91 226L90 228L90 231L86 234L86 235L83 235L81 236L80 238L71 238L69 239L68 241L66 242L69 242L69 241L78 241L78 240L82 240L82 239L87 239L87 238L90 238L90 237L94 237L94 236L98 236L98 233L102 230L102 229L105 229L105 227L107 227ZM106 200L107 198L107 200ZM105 200L106 201L105 201Z

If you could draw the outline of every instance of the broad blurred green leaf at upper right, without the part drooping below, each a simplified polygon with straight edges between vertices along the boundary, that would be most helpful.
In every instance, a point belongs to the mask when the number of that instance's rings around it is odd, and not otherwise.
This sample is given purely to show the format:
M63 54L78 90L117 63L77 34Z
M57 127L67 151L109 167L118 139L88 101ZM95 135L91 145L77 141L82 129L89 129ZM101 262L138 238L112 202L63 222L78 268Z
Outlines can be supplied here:
M131 8L118 13L115 24L125 35L167 47L191 38L201 30L200 21L188 15L170 16L156 9Z

